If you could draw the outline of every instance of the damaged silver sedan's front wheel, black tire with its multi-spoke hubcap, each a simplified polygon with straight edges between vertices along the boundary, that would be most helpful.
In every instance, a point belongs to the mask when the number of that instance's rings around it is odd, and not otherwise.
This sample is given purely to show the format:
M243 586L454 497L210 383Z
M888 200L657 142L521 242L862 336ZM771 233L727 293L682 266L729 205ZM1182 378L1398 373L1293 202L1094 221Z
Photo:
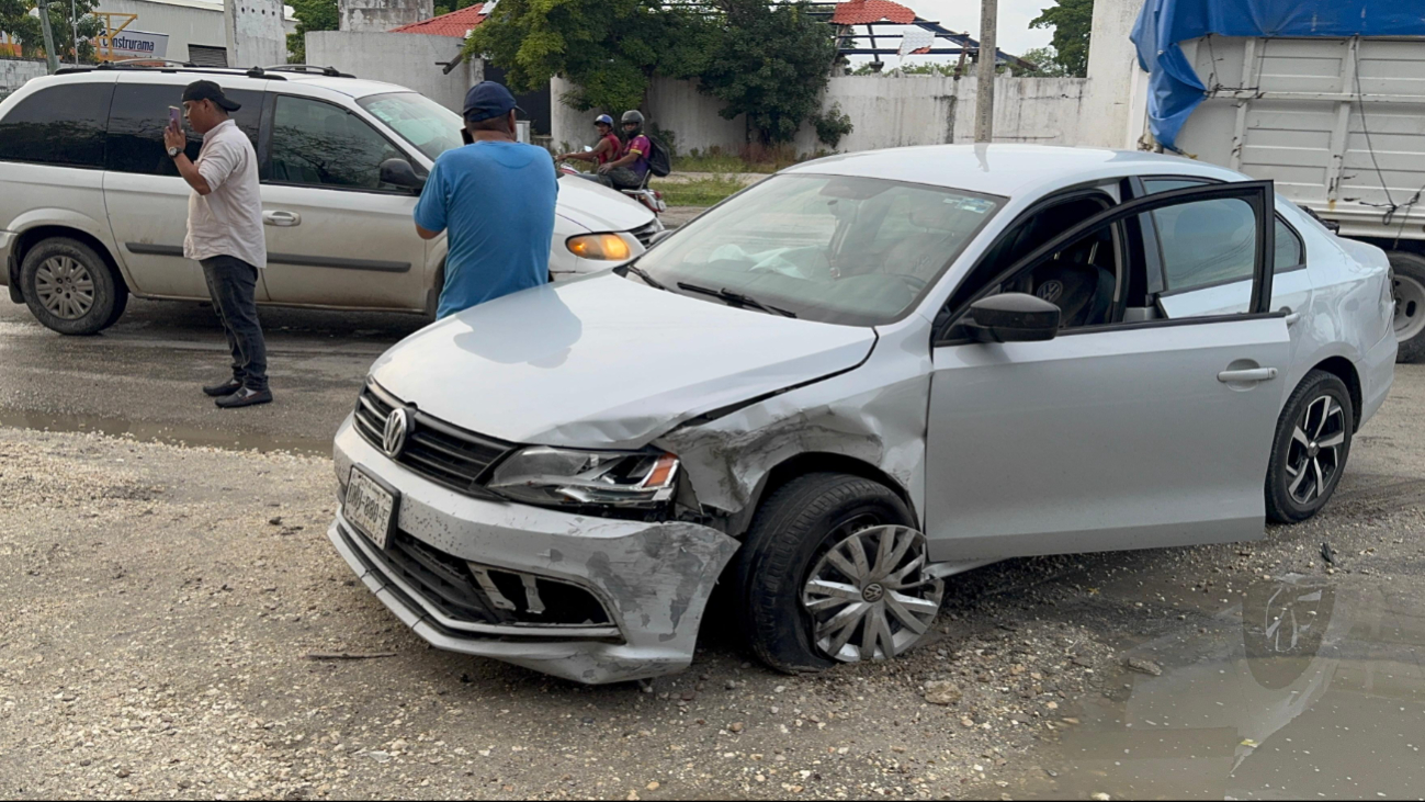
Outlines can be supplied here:
M884 484L868 479L841 473L812 473L779 487L752 519L737 566L742 631L752 652L777 671L801 674L824 671L838 661L889 658L915 645L939 611L943 583L922 574L925 536L911 528L913 526L905 503ZM891 577L879 580L868 574L869 581L862 585L838 585L848 591L855 588L855 594L869 594L875 590L875 595L855 601L846 601L849 597L844 595L825 598L818 604L829 603L828 607L819 613L809 610L808 580L812 578L814 570L818 571L815 574L818 578L822 577L821 571L829 570L832 548L839 550L852 538L858 541L866 538L869 543L876 537L891 537L892 543L906 544L905 557L898 558L895 566L908 566L919 560L921 567L911 568L912 573L902 584L893 584ZM869 557L879 563L874 551ZM908 600L901 593L884 590L891 587L899 587L916 598ZM901 605L901 601L906 604ZM916 628L884 613L889 610L888 604L896 604L902 611L915 611ZM859 614L851 610L852 607L872 613ZM875 613L876 610L882 613ZM842 645L834 658L818 645L817 617L821 615L825 621L838 613L854 613L855 615L845 620L861 623L835 630L848 634L846 642L851 645ZM872 620L889 624L881 627L869 623ZM885 638L868 638L868 632L884 632ZM824 642L829 644L834 640L826 638ZM869 652L865 647L868 641L872 644ZM858 648L859 657L854 654Z

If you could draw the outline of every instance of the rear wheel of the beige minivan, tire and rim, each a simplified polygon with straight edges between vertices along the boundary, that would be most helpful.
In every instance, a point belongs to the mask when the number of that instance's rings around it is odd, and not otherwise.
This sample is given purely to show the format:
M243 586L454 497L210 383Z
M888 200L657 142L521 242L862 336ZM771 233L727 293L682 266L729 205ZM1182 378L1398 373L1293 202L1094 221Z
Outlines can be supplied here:
M98 333L118 321L128 288L88 245L67 236L38 242L20 265L30 313L61 335Z

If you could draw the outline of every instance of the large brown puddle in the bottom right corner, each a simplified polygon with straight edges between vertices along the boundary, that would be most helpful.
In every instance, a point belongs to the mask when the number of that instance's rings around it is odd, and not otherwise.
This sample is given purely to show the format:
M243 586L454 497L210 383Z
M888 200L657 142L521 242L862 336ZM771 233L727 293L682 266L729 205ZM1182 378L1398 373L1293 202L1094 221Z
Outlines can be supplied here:
M1086 702L1030 796L1421 798L1425 598L1325 580L1254 584L1207 624L1131 650L1140 671Z

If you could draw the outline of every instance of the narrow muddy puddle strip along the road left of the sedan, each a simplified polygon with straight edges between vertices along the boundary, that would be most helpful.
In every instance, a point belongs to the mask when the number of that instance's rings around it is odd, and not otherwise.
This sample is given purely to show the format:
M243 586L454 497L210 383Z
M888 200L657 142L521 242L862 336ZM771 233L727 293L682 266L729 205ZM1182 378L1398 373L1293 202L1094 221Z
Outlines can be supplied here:
M291 452L295 454L323 457L329 457L332 454L331 437L284 437L274 434L215 432L212 429L200 429L197 426L147 423L94 415L64 415L0 409L0 426L9 426L11 429L36 429L40 432L95 432L100 434L133 437L135 440L167 443L171 446L209 446L235 452L256 449L262 453Z

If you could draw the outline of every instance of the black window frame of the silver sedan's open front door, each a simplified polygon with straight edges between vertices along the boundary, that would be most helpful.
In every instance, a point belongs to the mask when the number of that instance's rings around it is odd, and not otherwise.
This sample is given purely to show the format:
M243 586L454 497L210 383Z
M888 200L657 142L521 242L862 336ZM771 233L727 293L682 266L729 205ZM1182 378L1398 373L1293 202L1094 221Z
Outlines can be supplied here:
M1109 332L1109 330L1124 330L1124 329L1139 329L1139 328L1156 328L1156 326L1171 326L1171 325L1187 325L1187 323L1210 323L1221 321L1241 321L1251 318L1275 318L1282 316L1285 312L1271 312L1268 306L1271 305L1271 279L1273 279L1273 254L1274 249L1274 232L1275 232L1275 194L1271 181L1234 181L1234 182L1211 182L1203 187L1186 187L1181 189L1168 189L1164 192L1153 192L1150 195L1133 198L1116 207L1112 207L1073 228L1060 232L1054 238L1049 239L1025 258L1019 259L1009 268L1000 271L990 281L985 282L983 286L975 291L975 293L963 301L959 308L952 311L949 316L935 329L935 348L943 348L949 345L962 345L968 340L963 339L949 339L946 335L955 328L960 319L969 313L970 305L976 301L986 298L990 292L1010 281L1012 278L1020 275L1026 269L1037 266L1040 262L1053 256L1067 245L1072 245L1086 235L1106 225L1117 225L1124 219L1133 218L1136 215L1144 215L1159 208L1176 207L1183 204L1191 204L1198 201L1214 201L1214 199L1230 199L1237 198L1253 209L1253 217L1257 224L1255 248L1253 255L1253 288L1251 301L1248 302L1247 312L1230 313L1230 315L1208 315L1200 318L1163 318L1157 321L1134 321L1134 322L1119 322L1100 326L1084 326L1077 329L1064 329L1059 332L1059 336L1069 336L1076 333L1093 333L1093 332ZM1268 217L1268 209L1273 212ZM1273 219L1273 225L1267 225L1265 221ZM1017 221L1016 221L1017 222ZM998 242L998 241L996 241ZM1237 279L1245 281L1245 279ZM1198 288L1201 289L1201 288ZM1154 301L1161 293L1154 295Z

